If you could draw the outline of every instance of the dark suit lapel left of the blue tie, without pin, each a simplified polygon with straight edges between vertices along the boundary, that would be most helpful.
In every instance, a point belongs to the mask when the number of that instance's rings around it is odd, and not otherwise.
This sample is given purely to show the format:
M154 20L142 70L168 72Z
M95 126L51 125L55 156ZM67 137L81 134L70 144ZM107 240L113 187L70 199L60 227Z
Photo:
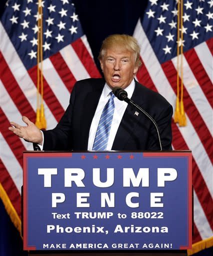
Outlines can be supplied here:
M88 145L88 136L89 136L89 129L91 125L92 118L94 116L103 86L105 84L105 81L103 79L99 79L99 84L96 86L93 86L93 91L90 91L87 93L85 99L83 99L84 102L84 112L82 114L82 123L83 125L80 127L81 130L81 148L86 148Z

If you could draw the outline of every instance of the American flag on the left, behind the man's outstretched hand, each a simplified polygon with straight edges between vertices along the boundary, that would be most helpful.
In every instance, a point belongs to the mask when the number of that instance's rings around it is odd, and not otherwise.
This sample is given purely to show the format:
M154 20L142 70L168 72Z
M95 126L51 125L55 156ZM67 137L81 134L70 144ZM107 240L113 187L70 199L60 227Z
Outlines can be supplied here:
M53 128L69 102L76 80L100 77L71 0L8 0L0 20L0 197L20 231L22 152L31 143L8 130L21 116L35 121L37 20L43 24L43 83L47 129Z

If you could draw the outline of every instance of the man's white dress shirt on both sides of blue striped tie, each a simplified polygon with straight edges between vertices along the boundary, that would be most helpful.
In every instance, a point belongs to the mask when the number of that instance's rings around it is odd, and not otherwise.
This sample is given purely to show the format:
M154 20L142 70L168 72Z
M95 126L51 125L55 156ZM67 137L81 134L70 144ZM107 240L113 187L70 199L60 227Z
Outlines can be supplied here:
M132 93L134 91L134 86L135 86L135 82L133 79L131 81L131 83L125 88L125 91L127 92L129 98L132 96ZM91 122L90 129L89 129L87 150L92 150L92 146L94 143L94 138L95 138L97 126L99 123L99 119L100 119L102 110L103 110L106 102L110 98L110 95L109 95L110 91L111 91L110 87L105 83L102 93L100 95L100 99L97 104L96 111L94 113L94 116L93 116L93 119ZM119 127L119 124L121 122L121 119L123 117L123 114L125 112L127 105L128 104L125 101L121 101L118 98L114 97L114 114L112 117L111 128L109 131L109 137L108 137L108 143L106 146L106 150L111 150L115 135L117 133L117 129Z

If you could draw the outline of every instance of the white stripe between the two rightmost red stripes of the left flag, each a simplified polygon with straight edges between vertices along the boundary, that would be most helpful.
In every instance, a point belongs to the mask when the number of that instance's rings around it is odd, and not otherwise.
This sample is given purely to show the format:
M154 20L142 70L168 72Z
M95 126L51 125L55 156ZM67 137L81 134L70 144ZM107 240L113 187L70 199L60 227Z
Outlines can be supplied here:
M90 77L70 44L66 45L59 52L76 80Z

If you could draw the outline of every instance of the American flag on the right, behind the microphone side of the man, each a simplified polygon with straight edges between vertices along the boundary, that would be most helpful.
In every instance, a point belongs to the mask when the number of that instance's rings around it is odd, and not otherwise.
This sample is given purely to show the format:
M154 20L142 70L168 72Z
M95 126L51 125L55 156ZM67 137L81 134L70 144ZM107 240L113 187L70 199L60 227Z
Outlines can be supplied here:
M173 109L177 93L177 44L183 44L183 102L187 125L180 127L172 121L172 146L192 151L193 243L196 243L211 237L213 228L213 0L183 1L183 38L178 41L177 14L177 0L149 0L133 36L141 46L143 62L137 73L138 81L162 94Z

